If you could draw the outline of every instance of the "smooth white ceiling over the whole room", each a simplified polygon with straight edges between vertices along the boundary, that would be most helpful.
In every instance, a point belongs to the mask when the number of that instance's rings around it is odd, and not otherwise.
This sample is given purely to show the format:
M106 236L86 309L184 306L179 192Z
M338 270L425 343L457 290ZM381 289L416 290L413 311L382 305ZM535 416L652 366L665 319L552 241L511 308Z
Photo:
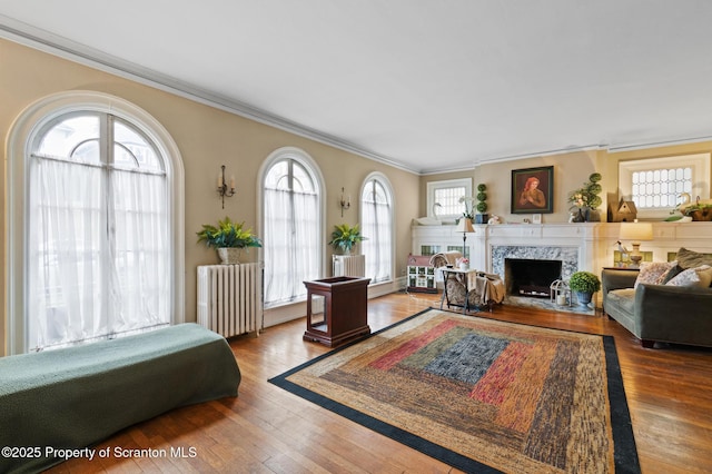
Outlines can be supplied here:
M709 0L0 0L0 36L414 172L712 136Z

